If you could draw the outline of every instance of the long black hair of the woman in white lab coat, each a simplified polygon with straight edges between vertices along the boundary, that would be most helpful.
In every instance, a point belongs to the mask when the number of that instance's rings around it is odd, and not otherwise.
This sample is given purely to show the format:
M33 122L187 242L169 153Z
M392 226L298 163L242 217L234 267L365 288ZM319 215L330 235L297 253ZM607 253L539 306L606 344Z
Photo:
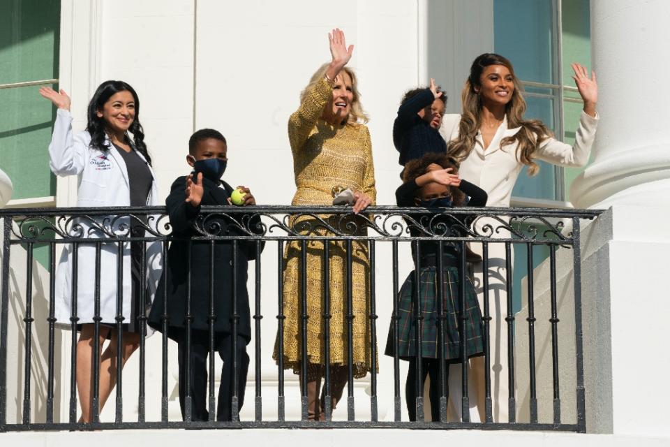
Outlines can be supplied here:
M91 147L98 147L99 149L111 149L105 144L105 119L98 117L98 111L103 110L105 103L119 93L119 91L130 91L135 100L135 118L128 131L133 134L133 144L137 152L140 152L151 165L151 157L147 152L147 145L144 144L144 130L140 124L140 98L137 98L137 93L131 85L124 81L105 81L103 82L96 93L94 93L91 102L89 102L88 124L86 130L91 134Z

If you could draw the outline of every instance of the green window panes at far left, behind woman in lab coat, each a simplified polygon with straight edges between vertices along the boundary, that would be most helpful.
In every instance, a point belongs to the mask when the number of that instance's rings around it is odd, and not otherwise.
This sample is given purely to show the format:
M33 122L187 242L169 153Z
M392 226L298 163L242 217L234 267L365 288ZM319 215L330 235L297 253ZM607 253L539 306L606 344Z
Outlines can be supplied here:
M58 78L59 0L0 1L0 24L0 84ZM47 155L55 112L38 89L0 89L0 167L13 199L55 193Z

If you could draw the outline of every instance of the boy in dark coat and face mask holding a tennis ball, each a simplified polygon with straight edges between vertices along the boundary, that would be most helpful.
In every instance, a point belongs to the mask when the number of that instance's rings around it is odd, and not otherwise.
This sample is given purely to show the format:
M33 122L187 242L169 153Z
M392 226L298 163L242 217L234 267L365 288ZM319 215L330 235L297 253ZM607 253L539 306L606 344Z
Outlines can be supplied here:
M190 376L191 420L209 420L207 411L207 356L210 349L210 307L214 307L213 350L223 360L221 386L218 390L216 420L232 420L232 397L237 394L239 408L244 403L244 388L249 357L246 345L251 340L247 261L256 257L256 243L237 241L237 265L233 265L234 242L218 240L214 243L214 271L210 271L211 242L190 241L194 235L201 205L232 206L230 195L234 189L221 180L225 171L228 150L225 138L213 129L201 129L188 140L186 162L194 168L188 176L177 178L172 184L165 203L175 239L170 245L163 278L156 291L156 300L149 314L149 325L163 330L163 316L168 318L167 335L179 344L179 403L181 416L186 415L186 383ZM239 186L246 195L242 205L255 205L248 188ZM243 235L243 219L231 214L234 220L212 214L202 221L205 230L215 235ZM257 228L258 217L251 219L248 228ZM213 225L212 225L213 224ZM191 252L189 253L189 245ZM260 247L262 249L262 247ZM188 303L188 263L191 261L190 303ZM234 281L233 278L237 281ZM236 288L234 296L234 287ZM210 293L210 287L213 293ZM167 296L167 300L164 297ZM237 304L237 339L233 339L233 300ZM167 308L165 308L165 301ZM191 314L190 334L186 317ZM190 343L188 337L190 336ZM234 359L237 344L237 359ZM190 349L187 349L190 346ZM190 360L188 353L190 351ZM210 371L210 374L213 372ZM237 380L236 380L237 379ZM237 382L237 393L234 393Z

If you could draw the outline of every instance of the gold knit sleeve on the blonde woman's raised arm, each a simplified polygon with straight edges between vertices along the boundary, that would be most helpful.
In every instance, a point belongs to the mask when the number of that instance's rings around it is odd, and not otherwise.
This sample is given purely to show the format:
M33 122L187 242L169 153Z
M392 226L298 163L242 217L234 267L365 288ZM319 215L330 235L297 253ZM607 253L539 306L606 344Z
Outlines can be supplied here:
M332 96L333 88L322 78L307 92L298 110L292 113L288 119L288 139L294 153L305 144Z

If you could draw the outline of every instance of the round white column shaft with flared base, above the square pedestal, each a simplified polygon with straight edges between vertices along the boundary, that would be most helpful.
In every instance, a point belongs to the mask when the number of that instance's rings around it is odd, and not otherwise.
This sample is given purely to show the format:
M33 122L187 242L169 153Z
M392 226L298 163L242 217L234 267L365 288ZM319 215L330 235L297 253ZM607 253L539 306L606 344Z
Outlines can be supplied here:
M601 115L593 164L572 184L576 207L670 205L667 0L591 0Z

